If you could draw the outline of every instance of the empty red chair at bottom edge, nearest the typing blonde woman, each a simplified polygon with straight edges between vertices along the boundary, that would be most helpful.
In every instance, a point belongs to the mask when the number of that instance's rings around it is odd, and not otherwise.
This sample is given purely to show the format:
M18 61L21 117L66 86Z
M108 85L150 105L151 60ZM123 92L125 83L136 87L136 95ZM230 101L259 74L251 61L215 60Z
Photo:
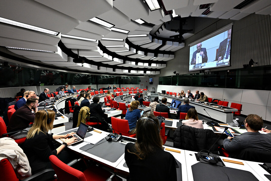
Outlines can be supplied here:
M99 168L96 165L93 165L89 167L88 169L86 169L85 171L81 172L63 163L55 155L51 155L49 157L49 160L51 162L51 165L53 166L54 171L56 172L56 175L59 181L67 181L67 180L98 181L98 180L107 180L109 177L112 178L112 180L116 181L116 178L113 178L115 174L112 174L102 168ZM73 163L77 163L77 162L73 161Z

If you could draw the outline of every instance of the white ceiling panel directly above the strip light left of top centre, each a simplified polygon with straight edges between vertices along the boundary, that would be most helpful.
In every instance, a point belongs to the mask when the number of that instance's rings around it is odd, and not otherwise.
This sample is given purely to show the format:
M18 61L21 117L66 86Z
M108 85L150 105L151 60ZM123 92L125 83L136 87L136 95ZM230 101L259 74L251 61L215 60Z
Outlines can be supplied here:
M125 24L130 23L130 18L115 7L110 11L99 15L98 18L117 26L124 26Z

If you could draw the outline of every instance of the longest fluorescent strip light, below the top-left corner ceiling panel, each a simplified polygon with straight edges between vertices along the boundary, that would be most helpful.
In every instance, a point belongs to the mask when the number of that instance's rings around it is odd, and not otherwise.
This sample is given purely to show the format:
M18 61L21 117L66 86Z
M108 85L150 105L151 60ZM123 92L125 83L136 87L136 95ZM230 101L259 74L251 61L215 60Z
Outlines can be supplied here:
M27 28L27 29L30 29L30 30L40 31L40 32L47 33L47 34L52 34L52 35L55 35L55 36L57 36L59 34L59 32L56 32L56 31L51 31L51 30L47 30L47 29L40 28L40 27L37 27L37 26L32 26L32 25L29 25L29 24L20 23L20 22L17 22L17 21L12 21L12 20L2 18L2 17L0 17L0 22L11 24L11 25L14 25L14 26L19 26L19 27L22 27L22 28Z

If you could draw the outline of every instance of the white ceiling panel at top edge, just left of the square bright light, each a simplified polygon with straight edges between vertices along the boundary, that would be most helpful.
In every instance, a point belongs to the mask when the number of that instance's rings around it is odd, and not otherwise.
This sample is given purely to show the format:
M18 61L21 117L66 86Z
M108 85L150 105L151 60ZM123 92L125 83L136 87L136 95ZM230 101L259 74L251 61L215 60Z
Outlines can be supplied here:
M132 20L149 15L149 8L143 1L118 0L113 1L113 5Z

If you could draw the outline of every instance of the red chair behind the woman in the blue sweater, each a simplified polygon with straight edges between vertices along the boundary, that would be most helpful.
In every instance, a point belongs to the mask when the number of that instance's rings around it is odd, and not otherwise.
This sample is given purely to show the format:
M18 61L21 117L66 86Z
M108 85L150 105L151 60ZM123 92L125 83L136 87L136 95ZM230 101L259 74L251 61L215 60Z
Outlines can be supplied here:
M131 131L129 129L128 120L119 119L112 116L111 123L112 123L112 128L117 134L121 133L121 135L123 136L129 136L129 137L135 138L136 134L132 134L132 135L129 134L129 132Z

